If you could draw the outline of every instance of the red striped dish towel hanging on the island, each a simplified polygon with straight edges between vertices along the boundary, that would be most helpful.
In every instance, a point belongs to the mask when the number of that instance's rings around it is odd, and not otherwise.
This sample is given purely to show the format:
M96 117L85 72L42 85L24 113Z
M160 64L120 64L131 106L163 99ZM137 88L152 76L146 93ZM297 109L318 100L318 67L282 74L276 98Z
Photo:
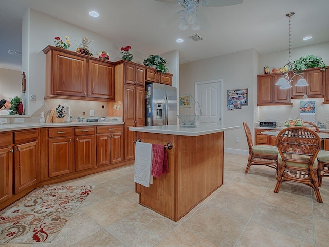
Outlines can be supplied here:
M161 174L168 173L168 159L165 145L152 144L152 170L153 177L161 178Z

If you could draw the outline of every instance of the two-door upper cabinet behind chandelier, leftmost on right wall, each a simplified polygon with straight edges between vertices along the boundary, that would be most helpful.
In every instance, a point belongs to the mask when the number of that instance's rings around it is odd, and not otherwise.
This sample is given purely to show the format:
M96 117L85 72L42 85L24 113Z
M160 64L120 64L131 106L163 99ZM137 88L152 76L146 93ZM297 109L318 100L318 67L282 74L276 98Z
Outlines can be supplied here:
M290 89L280 89L275 83L281 74L257 76L257 105L291 105Z

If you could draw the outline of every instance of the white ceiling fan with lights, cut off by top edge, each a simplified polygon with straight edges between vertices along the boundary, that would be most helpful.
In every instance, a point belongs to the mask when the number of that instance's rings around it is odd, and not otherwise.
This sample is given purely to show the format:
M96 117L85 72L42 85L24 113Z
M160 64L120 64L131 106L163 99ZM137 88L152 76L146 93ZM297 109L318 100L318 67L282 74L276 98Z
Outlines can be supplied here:
M198 7L224 7L229 5L241 4L243 0L156 0L166 3L176 3L180 4L184 9L180 10L176 14L180 14L180 23L178 28L180 30L186 30L188 24L191 25L193 30L199 30L201 28L199 21L199 11ZM175 14L175 15L176 15Z

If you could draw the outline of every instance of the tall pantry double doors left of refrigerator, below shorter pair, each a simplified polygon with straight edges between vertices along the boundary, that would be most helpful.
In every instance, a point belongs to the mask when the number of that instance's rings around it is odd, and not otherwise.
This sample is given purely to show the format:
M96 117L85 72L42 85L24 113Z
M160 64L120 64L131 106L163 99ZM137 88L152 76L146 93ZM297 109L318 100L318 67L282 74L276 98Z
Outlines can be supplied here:
M145 123L145 89L137 86L124 86L124 159L135 157L136 133L129 127L144 126Z

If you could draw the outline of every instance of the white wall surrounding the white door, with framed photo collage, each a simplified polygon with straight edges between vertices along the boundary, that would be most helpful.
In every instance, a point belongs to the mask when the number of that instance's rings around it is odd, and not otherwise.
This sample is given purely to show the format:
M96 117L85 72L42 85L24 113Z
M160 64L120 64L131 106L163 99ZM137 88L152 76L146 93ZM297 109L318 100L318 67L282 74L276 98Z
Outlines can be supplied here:
M224 125L240 125L246 121L248 125L253 123L254 112L254 81L257 52L254 49L235 52L233 54L217 56L209 59L180 65L180 94L195 95L196 82L223 80L222 112ZM227 90L248 89L248 105L242 109L227 110ZM194 114L193 108L181 108L180 114ZM235 143L235 137L240 142ZM247 150L246 136L243 128L225 132L225 148Z

